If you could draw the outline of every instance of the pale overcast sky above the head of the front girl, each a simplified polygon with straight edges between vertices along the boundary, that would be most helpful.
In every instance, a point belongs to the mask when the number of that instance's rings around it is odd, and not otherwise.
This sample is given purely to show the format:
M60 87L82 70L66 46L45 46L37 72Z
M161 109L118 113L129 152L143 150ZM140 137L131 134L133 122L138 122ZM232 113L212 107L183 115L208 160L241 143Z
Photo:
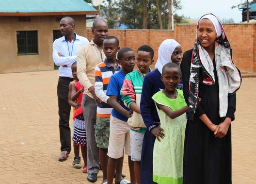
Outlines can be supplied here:
M231 6L238 5L244 0L181 0L182 10L175 13L198 19L205 13L213 13L221 20L233 18L236 23L242 21L241 11Z

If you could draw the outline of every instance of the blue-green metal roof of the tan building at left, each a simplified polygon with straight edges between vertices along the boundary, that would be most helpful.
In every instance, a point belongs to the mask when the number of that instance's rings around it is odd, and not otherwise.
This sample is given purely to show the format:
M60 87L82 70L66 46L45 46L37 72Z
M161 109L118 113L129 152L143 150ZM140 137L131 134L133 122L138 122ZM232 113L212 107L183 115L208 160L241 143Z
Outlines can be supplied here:
M98 11L84 0L0 0L0 15L65 15L65 12L92 14Z

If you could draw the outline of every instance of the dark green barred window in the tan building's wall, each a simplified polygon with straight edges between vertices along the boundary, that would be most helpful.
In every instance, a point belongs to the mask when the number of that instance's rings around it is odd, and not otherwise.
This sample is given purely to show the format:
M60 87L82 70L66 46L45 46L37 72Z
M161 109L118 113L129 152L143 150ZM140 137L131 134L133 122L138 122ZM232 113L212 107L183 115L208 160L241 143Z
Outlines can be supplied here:
M17 31L18 55L38 54L37 31Z

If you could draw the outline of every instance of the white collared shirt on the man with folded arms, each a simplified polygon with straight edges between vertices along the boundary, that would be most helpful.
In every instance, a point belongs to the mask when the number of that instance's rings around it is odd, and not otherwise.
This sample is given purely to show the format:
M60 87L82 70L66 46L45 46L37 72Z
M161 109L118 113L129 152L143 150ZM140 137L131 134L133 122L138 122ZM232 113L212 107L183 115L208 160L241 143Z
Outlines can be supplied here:
M52 58L55 65L60 66L58 74L60 77L73 78L71 65L77 61L77 52L80 47L88 43L87 38L79 36L77 33L75 33L75 37L71 42L67 41L65 36L54 40L52 45ZM60 52L62 56L59 56L58 52Z

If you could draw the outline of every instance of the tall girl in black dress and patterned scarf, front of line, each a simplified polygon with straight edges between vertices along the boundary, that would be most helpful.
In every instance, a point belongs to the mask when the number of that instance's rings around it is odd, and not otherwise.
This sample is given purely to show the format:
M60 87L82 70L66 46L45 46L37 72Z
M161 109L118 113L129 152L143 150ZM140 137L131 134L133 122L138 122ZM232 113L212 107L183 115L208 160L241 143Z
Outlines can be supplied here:
M241 78L223 26L214 15L198 20L194 48L184 53L181 71L190 107L183 184L231 184L231 121Z

